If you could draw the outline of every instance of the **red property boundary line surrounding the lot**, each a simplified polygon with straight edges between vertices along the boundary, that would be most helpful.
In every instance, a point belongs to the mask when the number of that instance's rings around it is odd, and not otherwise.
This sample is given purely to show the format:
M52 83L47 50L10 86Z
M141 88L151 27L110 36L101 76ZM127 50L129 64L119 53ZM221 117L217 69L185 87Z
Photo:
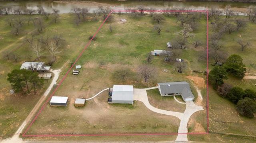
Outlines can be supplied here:
M104 23L106 22L106 20L108 19L108 17L110 16L110 14L112 14L113 12L206 12L207 14L207 21L206 21L206 47L207 47L207 98L206 98L206 112L207 112L207 131L206 132L198 132L198 133L105 133L105 134L36 134L36 135L26 135L26 133L28 132L28 130L30 129L30 127L32 126L32 124L36 121L36 119L38 118L38 116L41 114L41 112L44 110L44 108L46 107L46 105L48 104L48 102L50 101L50 98L52 98L52 96L54 95L54 93L56 92L56 90L60 87L60 85L62 84L62 82L66 79L66 77L68 76L68 73L72 70L72 68L74 67L74 65L76 64L76 62L80 59L80 57L82 56L82 54L84 53L84 51L87 49L87 47L90 45L90 43L92 42L92 39L97 35L97 33L100 31L100 29L102 28L102 26L104 25ZM84 47L84 49L82 50L82 52L78 55L78 57L76 58L76 61L73 63L73 65L70 67L70 69L66 72L66 74L63 76L63 78L60 80L60 82L58 83L58 86L55 88L55 90L52 92L52 94L49 96L49 98L46 100L46 102L44 102L43 106L41 107L41 109L39 110L39 112L36 114L36 116L33 118L33 120L30 122L30 124L28 125L28 127L26 128L26 130L24 131L24 133L22 133L22 137L78 137L78 136L121 136L121 135L178 135L178 134L187 134L187 135L202 135L202 134L208 134L209 133L209 84L208 84L208 10L112 10L110 11L110 13L108 14L108 16L106 17L106 19L102 22L102 24L100 25L100 27L97 29L97 31L94 33L94 35L92 36L92 38L90 39L90 41L86 44L86 46Z

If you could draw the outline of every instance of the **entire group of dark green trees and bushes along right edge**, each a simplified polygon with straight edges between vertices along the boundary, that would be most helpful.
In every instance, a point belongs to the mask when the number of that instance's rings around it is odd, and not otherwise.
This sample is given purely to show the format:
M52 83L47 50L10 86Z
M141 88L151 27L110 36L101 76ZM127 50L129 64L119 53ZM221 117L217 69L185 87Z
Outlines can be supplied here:
M239 114L252 118L256 112L256 92L251 89L243 90L224 83L228 74L243 78L246 68L243 59L239 55L230 55L223 66L215 66L209 72L209 81L223 98L227 98L234 104Z

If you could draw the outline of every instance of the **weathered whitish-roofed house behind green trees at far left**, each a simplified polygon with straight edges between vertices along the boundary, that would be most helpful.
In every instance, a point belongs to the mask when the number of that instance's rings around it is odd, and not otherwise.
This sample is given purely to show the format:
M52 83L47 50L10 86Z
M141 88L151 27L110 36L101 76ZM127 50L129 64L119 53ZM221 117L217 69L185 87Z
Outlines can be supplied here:
M49 72L50 66L44 66L44 62L24 62L20 69L27 69L39 72Z

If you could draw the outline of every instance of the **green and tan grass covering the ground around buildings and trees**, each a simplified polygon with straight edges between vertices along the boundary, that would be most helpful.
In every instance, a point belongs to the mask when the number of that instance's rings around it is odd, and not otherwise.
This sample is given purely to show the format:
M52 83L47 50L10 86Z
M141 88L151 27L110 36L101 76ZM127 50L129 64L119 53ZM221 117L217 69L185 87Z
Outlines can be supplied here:
M54 24L51 20L45 21L46 29L42 35L54 33L61 34L66 39L66 47L62 47L62 52L58 54L57 61L52 66L58 69L67 63L60 78L66 73L70 67L70 60L74 61L76 56L88 42L88 37L96 31L102 20L90 21L76 26L73 23L71 14L60 15L59 22ZM165 49L166 42L171 41L176 37L175 32L178 31L180 23L176 18L169 17L161 23L164 29L161 35L157 35L152 27L155 22L149 16L140 18L132 18L128 15L121 17L114 14L115 21L106 23L97 35L96 41L92 41L88 49L84 52L77 65L82 65L80 74L73 76L68 75L62 86L57 90L56 96L68 96L70 102L66 108L53 108L47 106L44 112L40 114L35 124L28 133L116 133L116 132L177 132L179 120L170 116L155 114L149 111L141 102L135 102L133 105L117 105L107 104L107 94L103 93L92 101L88 101L84 108L74 108L73 103L77 97L91 97L100 90L111 87L113 84L131 84L134 88L146 88L148 86L156 86L158 82L180 81L185 80L193 85L194 82L186 78L186 76L199 76L205 79L204 74L197 74L193 70L206 70L206 61L199 61L199 52L204 50L206 42L206 22L202 18L197 30L193 31L195 37L189 39L188 49L182 50L182 59L186 59L189 67L182 74L174 71L174 65L163 62L163 57L154 57L152 66L156 68L156 76L150 80L148 84L141 82L141 78L136 76L138 66L146 63L146 54L154 49ZM12 59L0 59L0 90L1 92L1 118L0 118L0 133L2 137L9 137L16 131L18 125L26 118L29 111L32 109L40 96L11 96L8 94L10 84L6 81L7 74L12 69L19 69L24 61L28 61L29 55L28 46L24 44L22 37L26 31L34 29L32 24L25 26L24 31L18 37L10 34L10 27L5 24L4 20L7 16L0 17L0 52L10 50L21 55L18 63ZM126 24L121 24L120 19L126 19ZM112 25L113 31L109 31L109 25ZM244 63L248 67L250 63L255 63L254 55L256 39L254 35L256 24L248 23L247 26L232 34L225 34L222 38L225 49L228 55L238 54L244 59ZM209 27L210 33L213 32L212 25ZM233 41L238 35L250 41L250 47L245 51L240 51L238 44ZM191 42L195 39L200 39L204 46L194 49ZM48 62L47 52L42 58L42 61ZM32 59L35 57L32 57ZM99 67L99 62L105 61L104 68ZM210 61L212 62L212 61ZM118 67L127 67L132 71L132 76L126 80L118 80L114 78L114 70ZM212 66L210 65L210 69ZM168 72L163 72L168 69ZM256 73L255 69L251 69L252 74ZM59 79L60 81L60 79ZM242 88L255 89L256 80L239 80L230 77L225 82L231 83L234 86ZM47 85L47 84L46 84ZM191 86L193 94L198 96L195 88ZM68 90L67 90L68 89ZM206 102L206 88L200 88L202 92L202 103ZM156 93L156 92L154 92ZM160 100L159 97L151 98L154 93L150 94L149 100ZM4 98L3 98L4 97ZM210 87L210 132L216 134L210 135L188 135L191 141L242 141L244 139L249 142L250 138L230 137L226 135L218 135L217 133L237 133L244 135L256 135L255 118L248 119L237 114L234 104L226 99L221 98L216 94L216 91ZM19 102L18 102L19 101ZM166 104L172 103L173 98L166 100ZM152 102L150 102L152 103ZM198 103L199 104L199 103ZM13 105L10 107L9 105ZM171 108L161 107L159 108ZM205 104L202 104L205 109ZM23 108L20 108L23 107ZM129 110L128 110L129 109ZM181 109L177 109L181 110ZM95 114L96 113L96 114ZM8 116L6 116L8 115ZM188 123L189 132L206 131L206 114L198 112L192 116ZM144 120L144 121L142 121ZM162 141L161 137L156 137L154 141ZM92 137L93 138L93 137ZM118 137L117 137L118 138ZM139 137L127 137L131 140L138 140ZM127 139L126 137L120 137ZM154 138L154 137L152 137ZM165 138L165 137L163 137ZM166 137L174 140L175 136ZM85 138L80 138L85 139ZM95 138L93 138L95 139ZM112 140L116 138L113 137ZM159 140L158 140L159 139ZM90 139L89 139L90 140ZM111 141L111 139L109 139ZM164 139L163 139L164 140ZM100 141L100 139L99 139ZM140 141L140 140L139 140Z

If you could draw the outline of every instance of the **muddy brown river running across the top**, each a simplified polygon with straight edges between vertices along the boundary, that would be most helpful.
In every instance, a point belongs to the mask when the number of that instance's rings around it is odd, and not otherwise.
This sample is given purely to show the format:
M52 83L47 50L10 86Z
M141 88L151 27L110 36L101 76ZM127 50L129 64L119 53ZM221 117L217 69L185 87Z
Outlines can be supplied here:
M0 6L12 6L13 8L24 7L37 10L38 6L42 6L46 12L52 12L52 9L60 10L61 14L69 13L73 7L88 8L89 12L93 12L98 6L110 6L114 10L125 10L128 8L137 8L138 6L146 6L155 9L167 8L192 8L194 10L204 10L211 7L224 9L230 4L233 10L245 13L246 8L250 3L238 2L177 2L177 1L108 1L108 0L93 0L93 1L0 1Z

